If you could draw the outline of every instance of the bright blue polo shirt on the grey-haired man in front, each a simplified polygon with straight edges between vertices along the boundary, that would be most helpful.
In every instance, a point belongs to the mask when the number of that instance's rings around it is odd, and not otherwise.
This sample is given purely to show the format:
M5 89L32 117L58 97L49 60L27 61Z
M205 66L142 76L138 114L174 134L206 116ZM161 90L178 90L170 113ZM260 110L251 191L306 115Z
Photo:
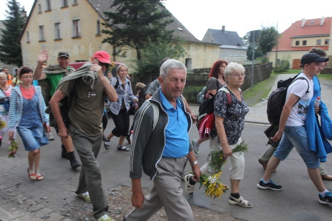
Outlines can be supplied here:
M163 95L161 89L159 90L162 108L169 116L169 123L165 129L165 148L162 156L180 158L187 155L189 150L188 121L179 99L176 100L175 109Z

